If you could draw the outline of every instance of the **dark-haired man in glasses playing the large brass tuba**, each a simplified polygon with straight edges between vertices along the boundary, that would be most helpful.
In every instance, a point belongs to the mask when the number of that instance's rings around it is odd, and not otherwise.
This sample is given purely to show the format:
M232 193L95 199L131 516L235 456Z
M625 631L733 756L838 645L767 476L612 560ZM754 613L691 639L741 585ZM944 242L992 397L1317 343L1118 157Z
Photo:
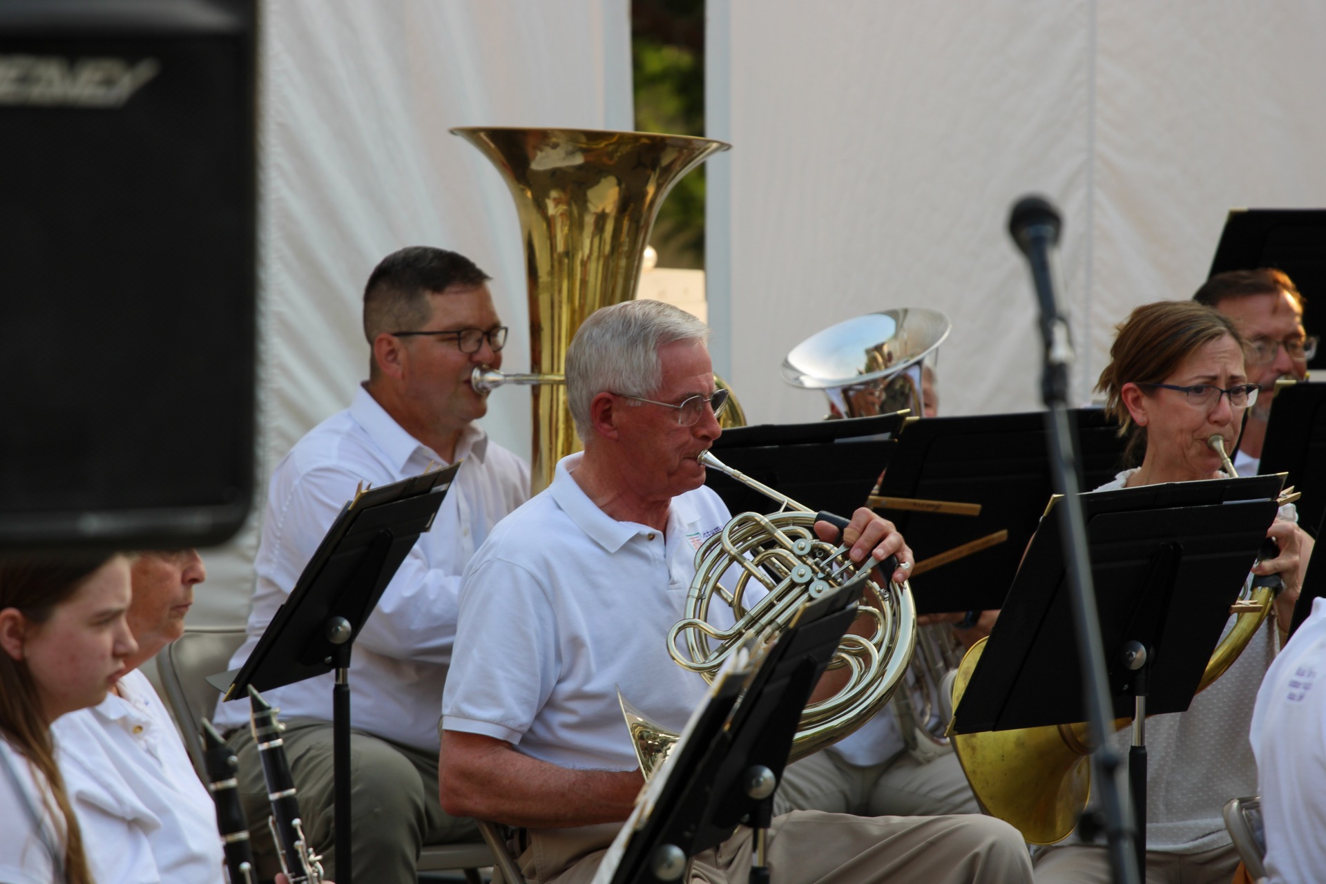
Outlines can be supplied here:
M272 473L241 665L289 596L341 508L362 484L387 485L464 460L432 530L422 534L355 636L350 691L354 877L416 881L423 844L479 840L471 819L438 799L438 702L451 664L460 575L488 531L529 497L529 465L473 424L488 411L477 366L501 366L507 329L468 258L428 247L389 254L363 293L369 379L342 411L314 427ZM332 765L333 676L267 692L284 742L305 831L335 877ZM240 759L249 820L269 811L248 702L220 704L216 725ZM253 826L260 864L274 859L265 823Z

